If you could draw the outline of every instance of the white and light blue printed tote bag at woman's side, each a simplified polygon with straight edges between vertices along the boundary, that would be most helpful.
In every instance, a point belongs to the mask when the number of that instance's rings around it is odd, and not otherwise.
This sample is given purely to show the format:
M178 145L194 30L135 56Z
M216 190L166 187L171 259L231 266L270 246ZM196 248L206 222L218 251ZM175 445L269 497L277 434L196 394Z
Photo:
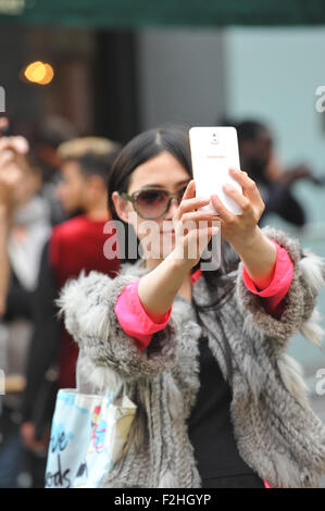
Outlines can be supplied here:
M123 397L118 398L123 388ZM60 389L49 444L46 488L97 488L127 440L137 406L121 383L104 396Z

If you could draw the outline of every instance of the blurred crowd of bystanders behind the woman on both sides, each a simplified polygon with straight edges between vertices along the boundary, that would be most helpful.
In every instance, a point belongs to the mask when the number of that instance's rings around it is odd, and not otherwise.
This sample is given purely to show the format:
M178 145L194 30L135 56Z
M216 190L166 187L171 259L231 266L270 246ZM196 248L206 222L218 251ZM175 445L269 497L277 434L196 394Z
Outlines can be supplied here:
M241 169L265 202L260 224L275 213L303 227L307 213L292 185L322 183L305 164L280 164L267 126L226 124L236 126ZM0 487L43 487L55 395L76 386L78 354L55 298L83 270L112 277L118 271L118 259L104 258L103 227L110 220L107 178L121 147L80 137L59 116L40 122L28 140L4 117L0 133Z

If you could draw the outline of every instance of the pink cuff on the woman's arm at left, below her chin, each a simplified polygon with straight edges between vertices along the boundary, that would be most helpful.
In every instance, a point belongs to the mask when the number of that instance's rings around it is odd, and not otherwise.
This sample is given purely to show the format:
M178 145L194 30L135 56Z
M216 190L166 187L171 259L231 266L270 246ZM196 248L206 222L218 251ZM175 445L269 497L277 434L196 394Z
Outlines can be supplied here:
M162 331L168 323L172 307L160 322L152 321L139 299L139 281L140 278L125 286L117 298L114 310L124 332L135 337L138 348L142 351L149 346L152 335Z

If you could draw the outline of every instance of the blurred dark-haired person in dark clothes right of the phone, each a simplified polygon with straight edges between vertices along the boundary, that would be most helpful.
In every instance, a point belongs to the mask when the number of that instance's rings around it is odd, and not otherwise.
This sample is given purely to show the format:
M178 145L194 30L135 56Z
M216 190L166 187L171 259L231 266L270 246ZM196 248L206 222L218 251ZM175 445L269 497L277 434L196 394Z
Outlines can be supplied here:
M296 227L303 227L307 213L292 192L292 185L300 179L316 183L308 165L299 164L284 169L274 153L274 138L270 128L255 120L243 120L239 123L225 121L237 129L240 164L257 183L265 203L261 225L270 213L278 214ZM320 183L317 183L320 184Z

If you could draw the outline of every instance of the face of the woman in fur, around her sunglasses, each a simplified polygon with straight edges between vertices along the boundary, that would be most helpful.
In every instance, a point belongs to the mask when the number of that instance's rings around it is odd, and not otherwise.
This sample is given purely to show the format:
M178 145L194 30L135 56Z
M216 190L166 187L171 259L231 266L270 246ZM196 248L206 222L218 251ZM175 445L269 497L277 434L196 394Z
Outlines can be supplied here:
M178 160L164 151L134 170L127 194L148 187L160 187L174 192L185 187L190 179L187 170ZM117 191L112 194L112 200L118 216L134 226L145 250L145 259L163 259L174 249L172 220L178 208L177 200L173 199L166 213L157 220L139 216L133 203L121 198Z

